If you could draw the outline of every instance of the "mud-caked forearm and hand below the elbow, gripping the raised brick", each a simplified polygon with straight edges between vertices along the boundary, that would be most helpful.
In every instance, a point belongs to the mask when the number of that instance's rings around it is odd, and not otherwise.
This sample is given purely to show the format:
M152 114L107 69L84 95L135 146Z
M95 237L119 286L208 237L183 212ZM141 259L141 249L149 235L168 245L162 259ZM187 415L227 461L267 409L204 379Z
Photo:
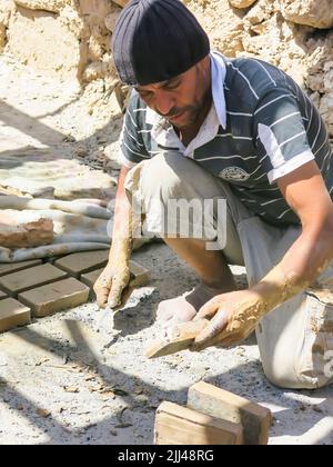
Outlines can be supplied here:
M205 304L196 318L213 318L196 337L193 349L244 340L265 315L313 284L333 257L330 244L329 236L303 235L259 284Z

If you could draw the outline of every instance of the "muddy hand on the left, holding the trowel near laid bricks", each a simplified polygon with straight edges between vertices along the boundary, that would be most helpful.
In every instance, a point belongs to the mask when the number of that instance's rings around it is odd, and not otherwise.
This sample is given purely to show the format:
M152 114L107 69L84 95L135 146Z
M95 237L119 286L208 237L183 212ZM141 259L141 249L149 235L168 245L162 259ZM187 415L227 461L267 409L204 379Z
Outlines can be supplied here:
M130 277L128 261L109 262L93 286L99 307L115 308L121 305L121 296L130 282Z

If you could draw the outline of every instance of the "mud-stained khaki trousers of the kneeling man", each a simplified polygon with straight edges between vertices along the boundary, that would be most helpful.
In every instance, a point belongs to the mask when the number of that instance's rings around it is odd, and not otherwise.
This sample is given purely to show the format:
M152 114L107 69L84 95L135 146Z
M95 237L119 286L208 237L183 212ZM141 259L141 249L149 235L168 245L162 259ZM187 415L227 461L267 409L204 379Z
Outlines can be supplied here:
M170 200L226 200L223 254L229 264L245 266L250 286L260 281L301 235L301 227L264 222L244 207L228 182L176 151L160 153L131 169L125 190L145 213L147 229L159 235L164 232L163 207ZM333 284L331 266L317 282L322 287L330 280ZM314 389L333 382L333 294L323 298L314 288L304 290L263 318L256 338L263 370L274 385Z

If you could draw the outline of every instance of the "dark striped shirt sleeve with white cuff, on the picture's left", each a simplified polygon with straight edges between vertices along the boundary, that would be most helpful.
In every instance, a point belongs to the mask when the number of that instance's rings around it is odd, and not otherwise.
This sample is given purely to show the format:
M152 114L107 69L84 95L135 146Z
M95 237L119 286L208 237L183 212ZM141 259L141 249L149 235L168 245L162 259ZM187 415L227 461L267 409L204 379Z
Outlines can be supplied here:
M118 158L118 161L122 166L129 168L150 158L140 132L142 130L142 112L138 111L140 105L139 95L133 91L123 120L120 135L120 153Z

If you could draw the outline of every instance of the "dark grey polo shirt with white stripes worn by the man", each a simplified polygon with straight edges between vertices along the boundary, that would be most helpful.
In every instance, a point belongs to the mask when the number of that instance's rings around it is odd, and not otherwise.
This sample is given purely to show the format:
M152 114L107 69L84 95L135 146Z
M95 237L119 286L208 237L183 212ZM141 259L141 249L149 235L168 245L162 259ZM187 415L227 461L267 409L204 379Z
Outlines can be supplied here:
M211 53L213 105L184 147L172 125L133 91L121 136L120 162L133 167L176 150L230 183L254 215L274 225L300 223L276 180L315 160L333 193L333 151L313 102L276 67Z

